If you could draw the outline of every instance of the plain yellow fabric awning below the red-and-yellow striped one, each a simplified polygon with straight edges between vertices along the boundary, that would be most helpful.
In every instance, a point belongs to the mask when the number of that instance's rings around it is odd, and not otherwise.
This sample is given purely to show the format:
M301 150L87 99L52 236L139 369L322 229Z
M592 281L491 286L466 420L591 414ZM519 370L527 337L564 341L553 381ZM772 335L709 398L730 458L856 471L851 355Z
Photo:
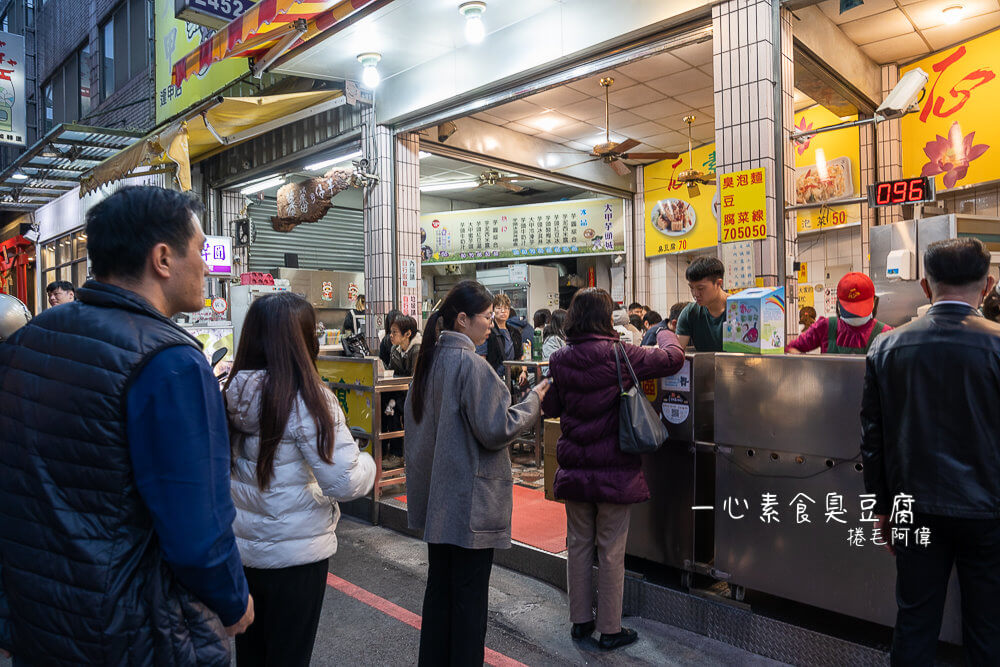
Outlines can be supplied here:
M80 196L105 183L121 180L141 167L161 165L176 165L181 189L190 190L193 162L226 146L346 103L347 98L340 90L218 98L94 166L80 180Z

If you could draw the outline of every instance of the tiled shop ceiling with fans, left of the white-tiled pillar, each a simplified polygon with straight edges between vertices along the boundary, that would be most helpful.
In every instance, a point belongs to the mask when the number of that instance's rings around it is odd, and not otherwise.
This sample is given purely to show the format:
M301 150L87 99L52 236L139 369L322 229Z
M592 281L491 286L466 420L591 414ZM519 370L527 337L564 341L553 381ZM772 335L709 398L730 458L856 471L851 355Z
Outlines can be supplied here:
M601 79L611 77L605 123ZM590 153L606 141L634 139L634 152L687 150L684 117L694 114L695 144L715 139L712 43L702 42L639 60L475 114L479 120ZM627 164L640 164L629 160Z

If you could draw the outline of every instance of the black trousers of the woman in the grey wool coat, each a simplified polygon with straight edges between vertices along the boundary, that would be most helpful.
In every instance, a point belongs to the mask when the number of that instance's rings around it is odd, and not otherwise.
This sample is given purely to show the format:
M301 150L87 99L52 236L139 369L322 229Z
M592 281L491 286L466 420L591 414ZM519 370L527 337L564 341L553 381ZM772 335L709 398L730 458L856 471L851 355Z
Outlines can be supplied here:
M427 560L417 664L482 665L493 549L428 544Z

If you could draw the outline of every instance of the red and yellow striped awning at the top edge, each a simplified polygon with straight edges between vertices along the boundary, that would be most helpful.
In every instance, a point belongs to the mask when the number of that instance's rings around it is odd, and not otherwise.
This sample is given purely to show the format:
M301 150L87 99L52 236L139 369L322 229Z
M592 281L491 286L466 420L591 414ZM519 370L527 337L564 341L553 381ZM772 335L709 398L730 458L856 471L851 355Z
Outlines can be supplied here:
M253 58L259 76L282 53L307 42L375 0L262 0L174 63L173 83L226 58Z

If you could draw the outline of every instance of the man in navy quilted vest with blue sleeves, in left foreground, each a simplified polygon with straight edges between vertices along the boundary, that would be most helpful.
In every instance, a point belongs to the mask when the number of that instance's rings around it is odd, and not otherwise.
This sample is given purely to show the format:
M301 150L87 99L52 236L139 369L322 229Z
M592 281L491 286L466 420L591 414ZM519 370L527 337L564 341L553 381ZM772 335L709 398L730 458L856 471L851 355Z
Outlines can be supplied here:
M193 198L87 213L95 280L0 344L0 649L25 664L229 665L253 621L229 442L198 342Z

